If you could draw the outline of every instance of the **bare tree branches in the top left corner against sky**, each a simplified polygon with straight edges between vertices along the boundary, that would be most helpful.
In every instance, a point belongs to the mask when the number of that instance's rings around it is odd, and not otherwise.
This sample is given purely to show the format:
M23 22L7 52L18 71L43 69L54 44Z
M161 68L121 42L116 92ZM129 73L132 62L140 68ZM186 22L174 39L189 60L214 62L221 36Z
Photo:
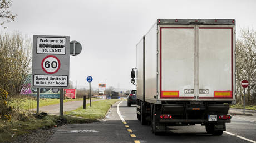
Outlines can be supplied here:
M11 13L9 11L9 8L11 7L12 0L2 0L0 1L0 25L3 25L4 23L12 22L14 21L14 18L17 16L17 14ZM7 27L4 27L7 28Z

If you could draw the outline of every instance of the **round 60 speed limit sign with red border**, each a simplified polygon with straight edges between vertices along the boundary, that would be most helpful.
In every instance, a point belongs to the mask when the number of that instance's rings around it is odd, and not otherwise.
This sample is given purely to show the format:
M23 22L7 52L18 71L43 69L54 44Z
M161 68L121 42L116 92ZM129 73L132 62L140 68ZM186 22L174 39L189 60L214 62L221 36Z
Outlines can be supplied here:
M61 62L56 56L47 55L45 58L43 58L41 65L43 71L45 71L47 74L54 74L60 69Z

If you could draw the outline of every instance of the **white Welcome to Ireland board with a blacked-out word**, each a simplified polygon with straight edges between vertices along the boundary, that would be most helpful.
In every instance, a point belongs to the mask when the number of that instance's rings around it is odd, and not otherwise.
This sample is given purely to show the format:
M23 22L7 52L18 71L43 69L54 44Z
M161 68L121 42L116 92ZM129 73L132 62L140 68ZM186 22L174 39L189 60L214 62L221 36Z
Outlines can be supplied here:
M66 54L66 38L37 37L37 54Z

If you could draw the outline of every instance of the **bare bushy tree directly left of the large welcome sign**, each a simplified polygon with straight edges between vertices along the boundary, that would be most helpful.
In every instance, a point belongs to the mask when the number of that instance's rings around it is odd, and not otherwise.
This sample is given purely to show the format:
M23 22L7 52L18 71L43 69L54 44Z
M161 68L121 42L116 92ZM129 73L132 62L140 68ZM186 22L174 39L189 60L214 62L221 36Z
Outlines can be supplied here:
M0 88L18 94L31 73L31 41L20 33L0 35Z

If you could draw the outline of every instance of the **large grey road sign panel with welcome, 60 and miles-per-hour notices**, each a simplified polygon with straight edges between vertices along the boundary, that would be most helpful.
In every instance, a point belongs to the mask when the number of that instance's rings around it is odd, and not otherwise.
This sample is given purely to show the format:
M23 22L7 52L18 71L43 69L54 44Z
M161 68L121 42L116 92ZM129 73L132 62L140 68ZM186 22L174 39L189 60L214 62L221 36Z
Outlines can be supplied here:
M33 35L32 86L65 88L70 73L70 37Z

